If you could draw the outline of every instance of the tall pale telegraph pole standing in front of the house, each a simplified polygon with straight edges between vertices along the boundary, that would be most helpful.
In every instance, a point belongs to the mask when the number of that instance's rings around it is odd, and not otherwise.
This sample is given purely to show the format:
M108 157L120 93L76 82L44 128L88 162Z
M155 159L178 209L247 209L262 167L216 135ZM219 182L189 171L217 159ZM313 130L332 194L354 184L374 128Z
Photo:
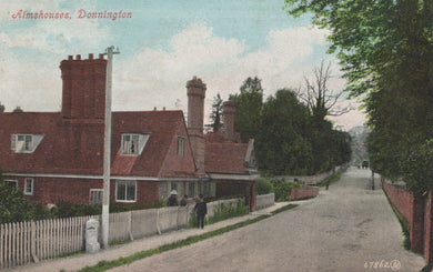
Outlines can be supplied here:
M102 243L107 250L109 248L109 212L110 212L110 175L111 175L111 83L113 72L114 47L105 49L107 74L105 74L105 130L103 137L103 201L102 201Z

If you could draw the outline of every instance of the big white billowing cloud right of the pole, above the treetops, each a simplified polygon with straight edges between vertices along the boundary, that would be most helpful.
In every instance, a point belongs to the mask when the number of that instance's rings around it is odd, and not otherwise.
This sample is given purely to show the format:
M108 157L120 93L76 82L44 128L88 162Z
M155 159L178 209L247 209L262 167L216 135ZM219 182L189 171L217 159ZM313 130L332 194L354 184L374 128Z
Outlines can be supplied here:
M324 44L325 33L305 27L273 30L265 48L251 51L244 41L216 37L205 23L192 23L172 37L169 50L145 48L120 61L117 80L122 90L114 94L120 102L114 107L147 107L139 101L149 101L147 108L170 107L175 99L185 99L184 84L193 75L208 84L208 104L218 92L223 98L238 92L250 75L261 78L273 93L302 79L299 66L315 46Z

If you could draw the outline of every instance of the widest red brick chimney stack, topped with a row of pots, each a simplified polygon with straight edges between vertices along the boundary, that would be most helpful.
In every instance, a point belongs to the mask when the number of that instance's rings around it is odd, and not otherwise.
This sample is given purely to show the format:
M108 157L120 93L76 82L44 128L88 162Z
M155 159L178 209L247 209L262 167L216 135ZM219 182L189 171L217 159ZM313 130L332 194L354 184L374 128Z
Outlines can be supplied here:
M73 123L103 123L107 60L69 56L60 63L63 80L62 118Z

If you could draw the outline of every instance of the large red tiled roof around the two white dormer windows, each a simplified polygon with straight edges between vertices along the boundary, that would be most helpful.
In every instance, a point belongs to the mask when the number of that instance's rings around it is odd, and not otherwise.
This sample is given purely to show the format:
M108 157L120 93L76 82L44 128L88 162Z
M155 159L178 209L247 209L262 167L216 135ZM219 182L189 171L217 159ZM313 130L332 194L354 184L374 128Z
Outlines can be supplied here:
M157 177L180 125L182 111L113 112L112 175ZM11 151L11 135L43 134L32 153ZM151 133L140 155L121 155L122 133ZM101 175L103 124L70 124L61 114L0 113L0 168L14 173ZM193 174L193 173L192 173Z

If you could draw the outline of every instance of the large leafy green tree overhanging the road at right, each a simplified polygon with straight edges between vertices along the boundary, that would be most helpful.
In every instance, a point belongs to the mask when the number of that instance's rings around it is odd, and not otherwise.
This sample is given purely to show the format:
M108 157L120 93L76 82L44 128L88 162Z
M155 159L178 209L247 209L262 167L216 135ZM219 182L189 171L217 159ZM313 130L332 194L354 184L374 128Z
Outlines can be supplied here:
M285 0L328 28L346 90L363 95L372 167L401 177L404 158L433 134L433 3L424 0ZM407 175L406 175L407 177ZM416 188L412 188L416 191Z

